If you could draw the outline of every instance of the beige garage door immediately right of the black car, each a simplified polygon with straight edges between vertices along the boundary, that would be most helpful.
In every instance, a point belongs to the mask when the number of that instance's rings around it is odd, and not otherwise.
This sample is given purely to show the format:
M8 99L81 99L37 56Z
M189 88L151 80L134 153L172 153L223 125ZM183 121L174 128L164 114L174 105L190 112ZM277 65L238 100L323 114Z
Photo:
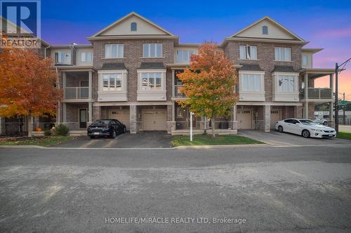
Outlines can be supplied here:
M166 111L143 110L143 130L166 130Z

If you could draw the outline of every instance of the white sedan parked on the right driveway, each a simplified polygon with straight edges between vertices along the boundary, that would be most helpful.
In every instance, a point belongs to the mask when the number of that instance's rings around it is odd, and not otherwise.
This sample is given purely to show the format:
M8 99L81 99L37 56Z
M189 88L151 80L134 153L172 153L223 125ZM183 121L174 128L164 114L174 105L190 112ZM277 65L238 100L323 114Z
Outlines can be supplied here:
M279 120L275 125L279 132L289 132L292 134L302 135L305 138L333 138L336 136L335 129L325 125L314 123L310 119L289 118Z

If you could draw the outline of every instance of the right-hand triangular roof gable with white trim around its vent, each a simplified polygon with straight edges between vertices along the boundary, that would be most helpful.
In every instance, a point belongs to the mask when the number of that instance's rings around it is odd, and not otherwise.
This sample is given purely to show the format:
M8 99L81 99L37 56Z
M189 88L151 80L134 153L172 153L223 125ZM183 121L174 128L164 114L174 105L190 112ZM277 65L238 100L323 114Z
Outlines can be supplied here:
M264 24L264 22L266 22L267 24L270 24L270 26L272 26L274 28L277 28L279 30L279 32L281 32L281 38L279 38L279 37L277 38L276 36L270 36L270 35L267 35L267 36L252 35L252 36L250 36L250 34L252 34L252 32L253 32L253 28L256 27L258 24ZM252 39L256 38L256 39L263 39L263 40L274 39L274 40L282 40L282 41L297 41L300 43L307 43L307 41L305 41L303 38L294 34L292 31L290 31L286 27L282 26L282 24L279 24L278 22L272 20L272 18L270 18L268 16L265 16L265 17L261 18L260 20L253 22L252 24L245 27L244 29L237 31L237 33L232 34L232 36L230 36L229 39L230 38L252 38Z

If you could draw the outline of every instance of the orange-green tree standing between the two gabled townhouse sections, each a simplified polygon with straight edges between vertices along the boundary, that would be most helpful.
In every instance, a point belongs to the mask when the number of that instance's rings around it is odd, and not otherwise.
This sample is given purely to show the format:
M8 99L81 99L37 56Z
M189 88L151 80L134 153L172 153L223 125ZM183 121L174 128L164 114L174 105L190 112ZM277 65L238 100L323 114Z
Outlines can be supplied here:
M234 85L235 68L216 44L204 43L197 55L192 55L190 69L178 73L183 87L180 92L187 97L178 101L195 115L212 119L212 136L215 137L215 117L227 116L237 101Z

